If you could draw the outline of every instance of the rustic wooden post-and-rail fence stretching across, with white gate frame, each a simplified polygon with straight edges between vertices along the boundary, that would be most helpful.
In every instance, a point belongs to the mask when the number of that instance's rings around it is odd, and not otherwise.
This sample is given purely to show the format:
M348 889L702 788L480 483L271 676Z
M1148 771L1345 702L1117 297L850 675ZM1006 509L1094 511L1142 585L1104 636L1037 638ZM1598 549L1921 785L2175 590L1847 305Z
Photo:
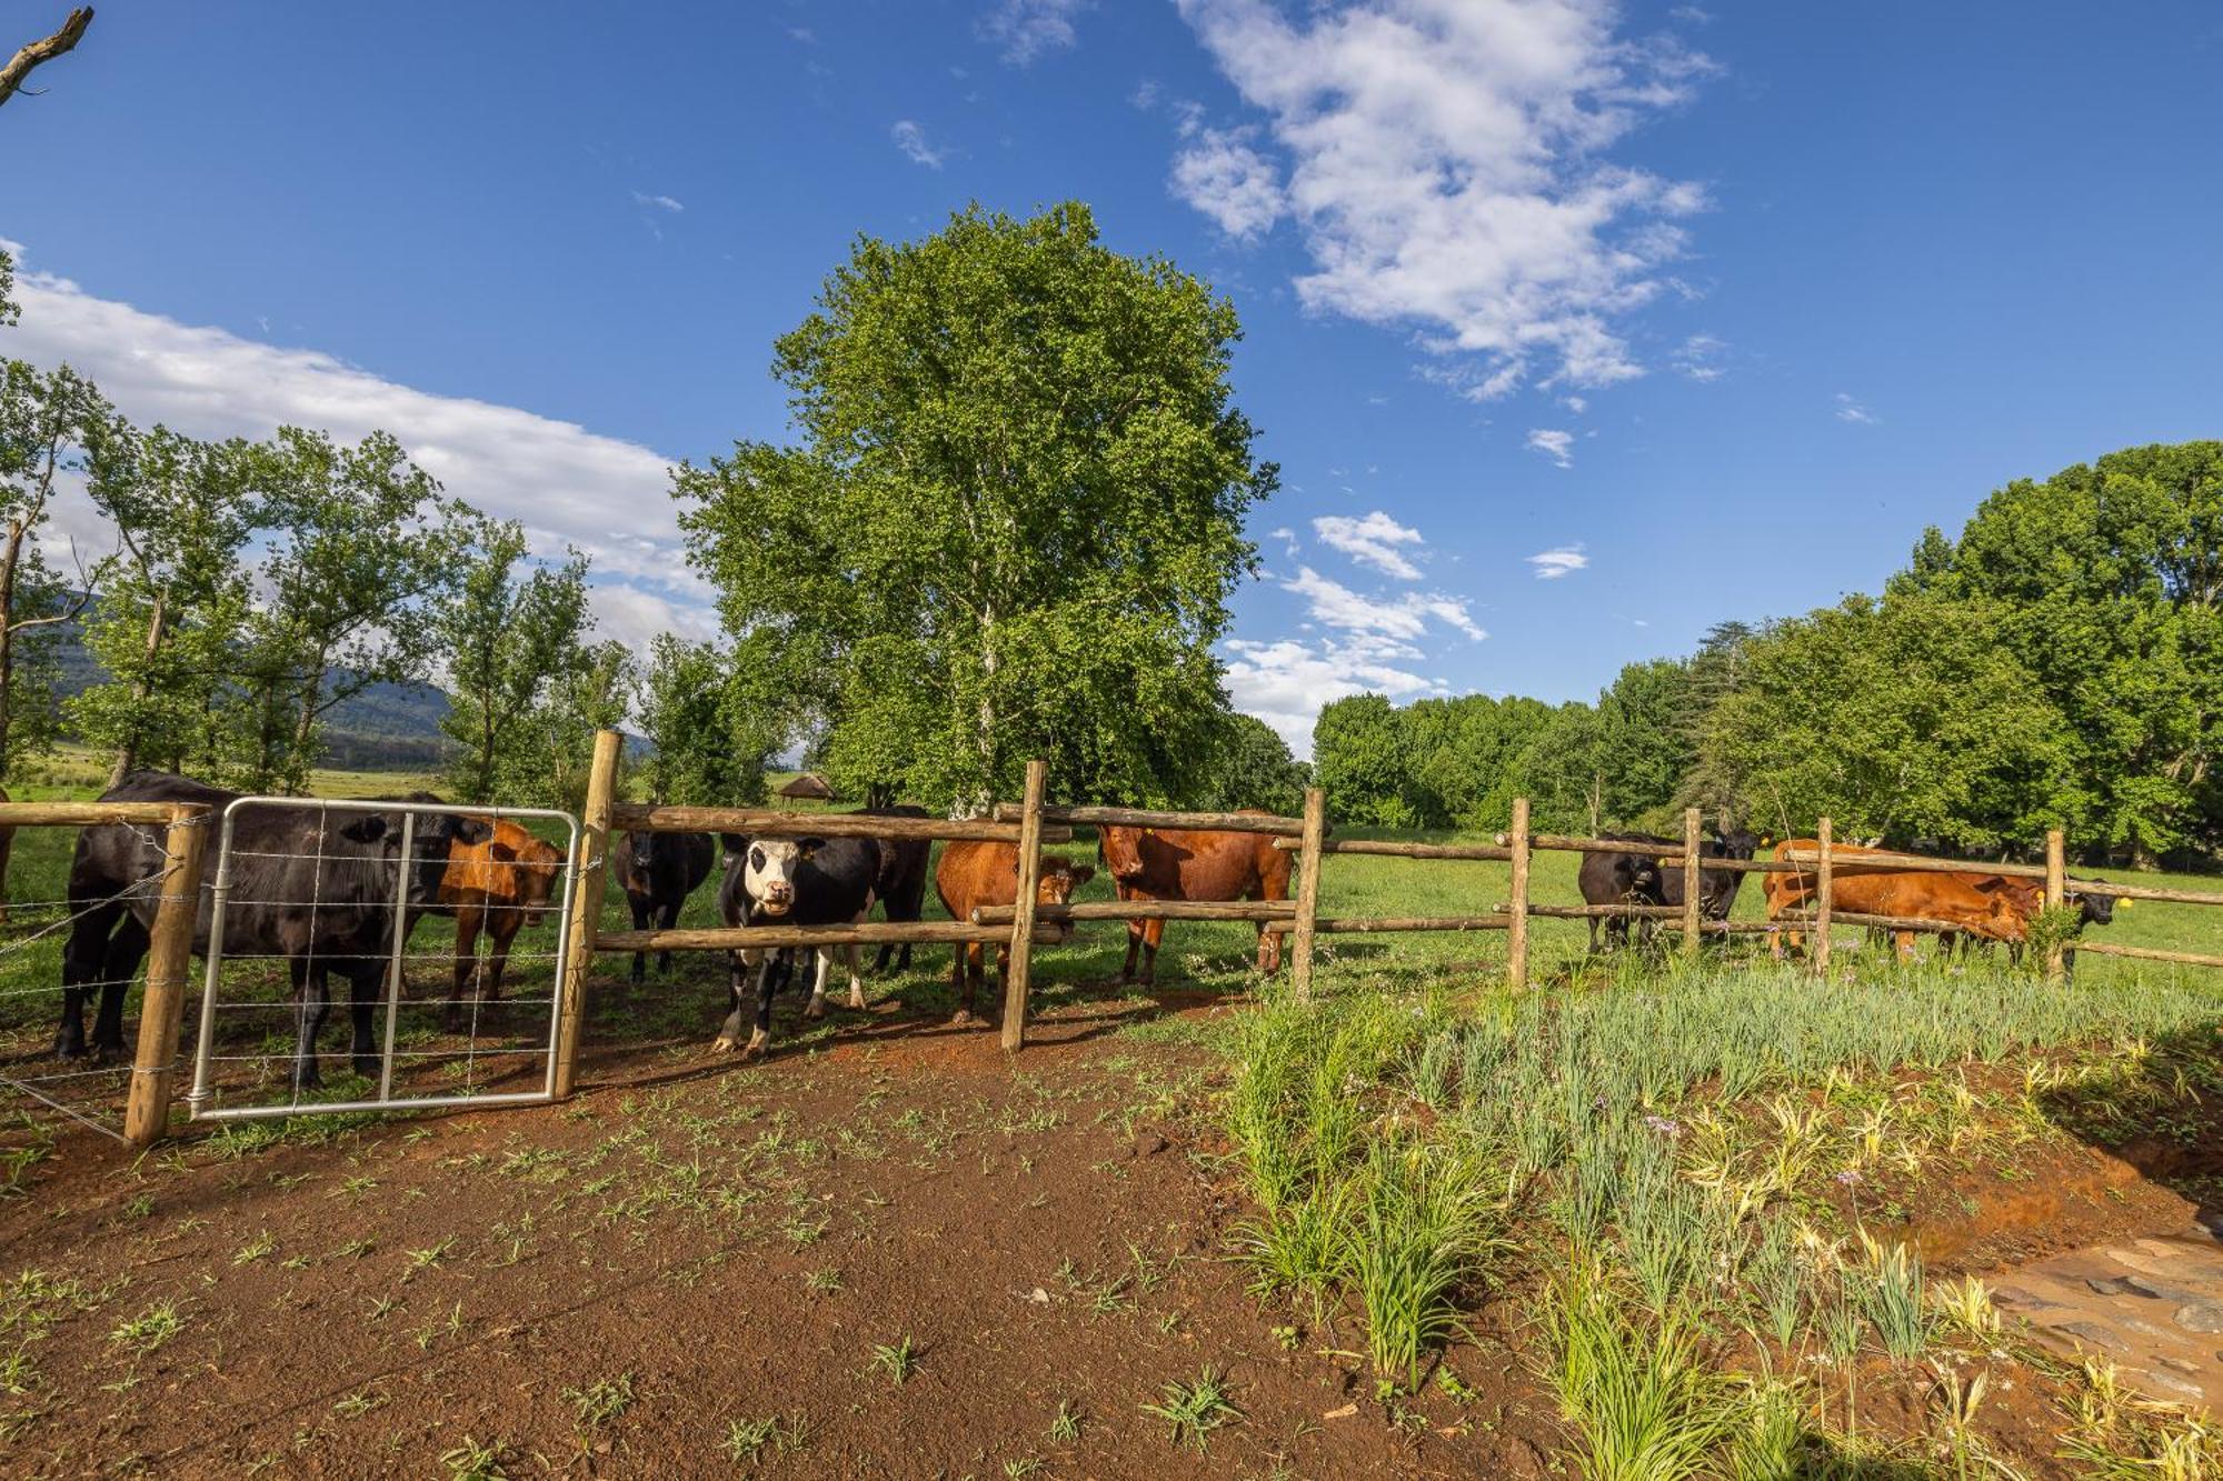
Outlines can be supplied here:
M1260 932L1287 936L1292 956L1292 987L1298 996L1312 994L1314 958L1323 936L1385 934L1385 932L1505 932L1505 974L1514 990L1529 981L1527 925L1534 918L1565 921L1656 921L1681 936L1681 950L1696 954L1705 936L1729 934L1803 934L1810 938L1810 963L1816 974L1830 970L1830 932L1834 927L1876 927L1890 932L1952 932L1956 925L1921 916L1874 916L1836 910L1841 869L1863 874L1876 872L1934 872L2007 876L2043 883L2043 903L2058 910L2076 896L2103 896L2114 901L2152 901L2179 905L2223 905L2223 892L2172 889L2150 885L2119 885L2105 881L2070 878L2065 867L2065 841L2056 829L2045 838L2045 863L1978 863L1963 858L1932 858L1923 854L1894 854L1858 849L1847 854L1832 834L1830 818L1821 818L1812 845L1778 849L1776 858L1725 858L1705 854L1698 809L1683 816L1683 838L1649 843L1632 838L1581 838L1563 834L1534 834L1529 829L1527 798L1514 798L1512 827L1492 843L1412 843L1396 838L1332 838L1329 821L1318 789L1305 794L1300 816L1227 814L1227 812L1154 812L1140 807L1058 807L1043 798L1045 765L1027 763L1025 796L1018 803L996 803L978 818L909 818L878 814L834 814L834 812L776 812L762 807L667 807L618 801L618 758L622 738L618 732L596 736L594 769L589 774L587 805L571 829L571 847L565 852L565 898L558 905L560 934L556 947L556 983L551 985L554 1025L547 1038L547 1076L536 1092L482 1094L469 1087L460 1096L436 1096L418 1101L389 1099L393 1063L393 1016L405 998L402 992L402 943L391 945L391 970L387 972L387 1018L385 1018L385 1072L378 1101L302 1103L253 1107L231 1114L296 1114L320 1110L409 1110L420 1105L498 1105L545 1099L567 1099L576 1083L578 1047L585 1025L587 998L591 992L594 958L616 952L742 952L823 945L885 945L885 943L940 943L965 947L969 943L1007 945L1009 967L1005 972L1003 1047L1018 1050L1027 1034L1027 998L1031 990L1031 967L1036 945L1056 945L1067 930L1087 921L1243 921L1256 923ZM316 803L307 803L316 807ZM385 805L393 807L393 805ZM440 812L494 812L442 805ZM558 814L540 814L558 816ZM569 818L560 818L571 823ZM165 863L158 876L133 887L142 898L153 898L151 950L147 956L147 992L138 1023L138 1045L131 1063L129 1101L124 1110L124 1139L149 1145L169 1127L169 1110L180 1067L178 1038L185 1016L187 974L196 950L196 901L205 887L205 854L209 836L218 823L209 807L176 803L0 803L0 825L4 827L89 827L120 823L131 827L160 827ZM1067 843L1076 825L1120 825L1165 832L1240 832L1269 836L1276 849L1294 854L1292 898L1269 901L1167 901L1167 898L1123 898L1083 901L1065 905L1038 903L1038 881L1043 874L1043 845ZM965 921L900 921L900 923L856 923L856 925L734 925L734 927L676 927L676 930L600 930L607 894L609 838L614 829L642 832L716 832L749 838L800 838L800 836L869 836L905 841L989 841L1007 843L1018 854L1018 892L1011 905L985 905L971 910ZM407 841L405 841L407 852ZM1658 861L1658 869L1681 872L1681 905L1638 903L1543 903L1529 892L1529 865L1538 852L1572 854L1641 854ZM1332 856L1387 856L1434 863L1505 863L1509 887L1503 903L1474 914L1454 916L1323 916L1320 872ZM1729 921L1705 912L1703 874L1794 874L1801 883L1801 907L1783 910L1770 921ZM153 892L160 892L158 896ZM1481 896L1478 896L1481 898ZM396 918L400 918L396 910ZM222 956L218 941L211 956ZM71 916L44 925L36 936L67 930ZM398 932L407 936L407 932ZM0 945L0 952L20 943ZM2070 952L2123 956L2139 961L2161 961L2199 967L2223 967L2223 956L2194 952L2165 952L2154 947L2112 945L2103 941L2081 941L2061 934L2047 938L2045 972L2063 976ZM202 1018L213 1023L216 1010L216 963L207 970L202 996ZM207 1079L207 1043L202 1036L200 1067ZM476 1027L473 1027L476 1043ZM16 1070L16 1065L11 1065ZM69 1079L62 1072L49 1079ZM58 1105L78 1114L58 1099L42 1092L38 1076L0 1074L0 1090L18 1090L31 1099ZM198 1085L207 1090L207 1085ZM207 1112L200 1112L207 1114ZM78 1116L84 1119L84 1116ZM107 1127L102 1127L107 1130Z

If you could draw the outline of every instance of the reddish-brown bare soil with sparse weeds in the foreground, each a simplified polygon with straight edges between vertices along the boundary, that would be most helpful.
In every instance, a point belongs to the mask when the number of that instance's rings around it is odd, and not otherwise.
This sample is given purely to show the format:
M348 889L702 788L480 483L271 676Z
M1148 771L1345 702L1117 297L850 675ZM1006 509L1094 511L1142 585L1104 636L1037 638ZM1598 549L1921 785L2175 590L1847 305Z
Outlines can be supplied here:
M1011 1061L914 974L829 1032L782 1003L776 1056L738 1067L707 1054L714 983L607 983L600 1032L662 1038L594 1045L560 1107L262 1123L138 1161L64 1134L0 1201L4 1470L1565 1472L1536 1281L1478 1292L1456 1383L1416 1396L1378 1392L1354 1321L1247 1292L1203 1114L1238 996L1054 985ZM2174 1152L2052 1143L1838 1196L1934 1279L2005 1281L2183 1236L2212 1194ZM1198 1448L1149 1405L1207 1370L1236 1412ZM1994 1450L2072 1474L2058 1381L1990 1372ZM1863 1430L1925 1432L1927 1374L1845 1379Z

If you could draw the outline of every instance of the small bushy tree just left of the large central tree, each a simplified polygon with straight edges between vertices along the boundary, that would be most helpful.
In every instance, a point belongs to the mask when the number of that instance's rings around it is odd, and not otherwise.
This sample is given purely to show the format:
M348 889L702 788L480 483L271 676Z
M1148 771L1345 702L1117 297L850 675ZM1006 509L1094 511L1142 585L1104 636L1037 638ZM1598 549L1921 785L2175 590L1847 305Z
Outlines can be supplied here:
M642 763L649 798L680 805L749 805L765 801L765 769L778 749L771 727L756 723L731 660L709 643L669 632L649 645L649 667L636 680Z

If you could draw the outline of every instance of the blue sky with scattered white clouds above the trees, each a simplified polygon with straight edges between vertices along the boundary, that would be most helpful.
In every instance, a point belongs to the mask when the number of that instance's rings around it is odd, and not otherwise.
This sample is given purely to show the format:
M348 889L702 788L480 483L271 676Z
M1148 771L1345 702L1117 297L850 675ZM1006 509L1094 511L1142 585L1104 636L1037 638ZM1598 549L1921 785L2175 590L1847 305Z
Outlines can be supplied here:
M851 236L1080 198L1240 311L1285 491L1225 656L1303 745L1358 687L1587 698L2223 431L2219 69L2159 0L107 0L0 111L0 349L387 425L589 549L605 632L707 634L660 469L782 434Z

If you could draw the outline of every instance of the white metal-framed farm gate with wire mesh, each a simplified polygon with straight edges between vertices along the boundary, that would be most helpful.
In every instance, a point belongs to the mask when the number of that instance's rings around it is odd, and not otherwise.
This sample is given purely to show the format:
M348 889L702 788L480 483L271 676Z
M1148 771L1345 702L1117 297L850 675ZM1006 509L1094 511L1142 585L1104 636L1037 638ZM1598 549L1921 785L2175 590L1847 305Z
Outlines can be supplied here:
M576 869L578 821L547 807L233 801L193 1119L551 1099Z

